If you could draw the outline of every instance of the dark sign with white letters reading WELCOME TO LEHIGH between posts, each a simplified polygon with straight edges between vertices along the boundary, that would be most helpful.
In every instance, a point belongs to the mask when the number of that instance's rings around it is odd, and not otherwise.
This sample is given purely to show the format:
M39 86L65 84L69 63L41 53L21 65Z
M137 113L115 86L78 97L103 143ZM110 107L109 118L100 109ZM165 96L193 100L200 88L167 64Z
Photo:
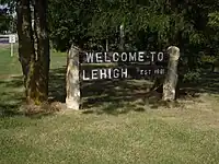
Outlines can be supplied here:
M163 51L82 52L80 54L80 78L90 81L159 77L165 74L168 60L169 56ZM103 67L108 63L113 66ZM84 65L87 67L83 67Z

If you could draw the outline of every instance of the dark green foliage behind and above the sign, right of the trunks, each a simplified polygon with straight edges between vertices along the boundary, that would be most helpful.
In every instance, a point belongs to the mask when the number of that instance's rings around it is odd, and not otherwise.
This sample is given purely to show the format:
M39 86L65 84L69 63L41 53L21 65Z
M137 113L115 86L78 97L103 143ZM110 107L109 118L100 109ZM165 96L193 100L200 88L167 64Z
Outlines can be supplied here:
M184 78L218 60L219 1L50 0L50 38L57 49L71 43L83 49L181 49ZM122 30L124 36L122 36ZM122 40L123 39L123 40ZM212 68L212 67L211 67Z

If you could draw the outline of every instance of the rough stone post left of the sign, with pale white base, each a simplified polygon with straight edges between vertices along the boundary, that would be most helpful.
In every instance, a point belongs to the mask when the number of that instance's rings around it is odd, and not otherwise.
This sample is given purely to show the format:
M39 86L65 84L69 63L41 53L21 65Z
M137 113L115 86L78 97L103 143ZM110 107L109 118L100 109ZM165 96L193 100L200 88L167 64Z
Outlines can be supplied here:
M79 48L71 46L67 59L66 73L66 105L69 109L80 109L80 74L79 74Z

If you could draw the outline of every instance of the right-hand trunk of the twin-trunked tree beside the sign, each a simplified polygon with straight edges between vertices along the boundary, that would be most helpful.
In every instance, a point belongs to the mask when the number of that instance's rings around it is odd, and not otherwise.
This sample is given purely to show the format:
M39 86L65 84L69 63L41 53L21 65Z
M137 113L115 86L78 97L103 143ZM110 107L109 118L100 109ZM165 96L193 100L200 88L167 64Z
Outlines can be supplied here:
M35 35L37 40L37 60L36 60L36 84L39 102L48 98L48 79L49 79L49 38L47 30L47 0L35 0L34 21Z

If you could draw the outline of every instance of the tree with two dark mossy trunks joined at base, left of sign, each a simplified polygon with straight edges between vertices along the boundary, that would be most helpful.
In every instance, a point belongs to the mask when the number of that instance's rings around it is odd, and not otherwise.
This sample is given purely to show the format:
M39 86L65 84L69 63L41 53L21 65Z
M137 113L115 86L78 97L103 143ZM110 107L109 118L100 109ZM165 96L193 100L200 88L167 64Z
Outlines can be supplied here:
M47 28L47 0L35 0L32 27L31 1L16 3L19 56L24 75L27 103L41 104L48 98L49 39ZM34 40L36 36L36 43ZM34 45L37 45L35 48Z

